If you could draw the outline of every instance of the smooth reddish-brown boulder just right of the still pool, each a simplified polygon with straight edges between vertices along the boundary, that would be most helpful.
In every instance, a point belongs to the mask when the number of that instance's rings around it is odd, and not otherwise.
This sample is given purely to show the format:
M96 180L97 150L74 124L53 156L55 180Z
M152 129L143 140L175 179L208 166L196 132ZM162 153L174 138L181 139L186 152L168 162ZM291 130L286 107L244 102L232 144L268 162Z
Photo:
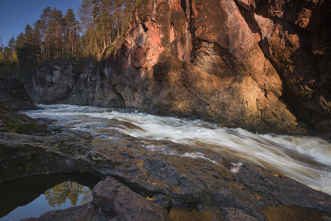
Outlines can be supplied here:
M92 194L93 201L101 209L107 210L107 219L119 216L120 220L171 220L161 205L133 192L111 177L100 181L92 189Z

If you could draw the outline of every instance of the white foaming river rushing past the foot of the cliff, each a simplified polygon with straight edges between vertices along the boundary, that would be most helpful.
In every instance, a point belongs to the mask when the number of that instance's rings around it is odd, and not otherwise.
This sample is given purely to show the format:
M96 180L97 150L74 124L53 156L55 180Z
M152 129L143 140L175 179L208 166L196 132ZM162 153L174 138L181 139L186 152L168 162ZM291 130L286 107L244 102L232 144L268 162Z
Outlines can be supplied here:
M101 139L109 139L107 131L116 129L133 137L208 148L239 164L241 161L255 163L331 195L331 144L318 137L255 134L202 120L155 116L132 109L39 106L44 110L22 112L31 117L57 119L59 125L88 131ZM203 157L198 152L191 156Z

